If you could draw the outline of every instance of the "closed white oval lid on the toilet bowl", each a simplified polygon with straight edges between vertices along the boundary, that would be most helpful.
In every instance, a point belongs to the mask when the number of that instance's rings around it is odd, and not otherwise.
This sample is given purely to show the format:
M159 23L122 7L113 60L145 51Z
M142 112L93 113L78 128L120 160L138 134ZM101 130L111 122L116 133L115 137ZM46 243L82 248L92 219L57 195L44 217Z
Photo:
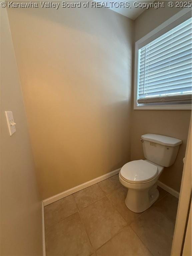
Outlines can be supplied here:
M144 183L157 175L157 166L144 160L131 161L123 165L120 175L130 183Z

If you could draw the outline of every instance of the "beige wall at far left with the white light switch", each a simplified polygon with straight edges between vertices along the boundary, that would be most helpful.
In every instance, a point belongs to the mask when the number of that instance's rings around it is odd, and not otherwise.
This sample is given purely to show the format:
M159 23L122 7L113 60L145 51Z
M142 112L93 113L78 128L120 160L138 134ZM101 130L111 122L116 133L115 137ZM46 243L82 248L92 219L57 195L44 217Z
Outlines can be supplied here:
M42 215L6 9L1 8L1 255L42 255ZM5 111L13 111L9 136Z

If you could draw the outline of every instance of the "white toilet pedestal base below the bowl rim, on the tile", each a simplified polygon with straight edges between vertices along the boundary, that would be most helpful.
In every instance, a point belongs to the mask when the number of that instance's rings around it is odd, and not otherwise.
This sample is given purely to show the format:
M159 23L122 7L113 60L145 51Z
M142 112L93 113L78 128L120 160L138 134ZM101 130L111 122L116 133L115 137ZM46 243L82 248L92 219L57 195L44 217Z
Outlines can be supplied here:
M148 189L132 189L129 188L125 199L125 205L132 212L144 212L159 197L157 183Z

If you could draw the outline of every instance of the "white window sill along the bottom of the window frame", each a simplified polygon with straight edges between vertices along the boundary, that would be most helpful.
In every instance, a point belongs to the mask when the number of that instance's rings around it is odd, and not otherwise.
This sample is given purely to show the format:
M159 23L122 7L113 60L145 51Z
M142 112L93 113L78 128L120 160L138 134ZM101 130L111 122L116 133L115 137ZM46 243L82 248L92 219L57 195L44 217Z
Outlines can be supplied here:
M134 110L191 110L191 104L183 105L155 105L155 106L134 106Z

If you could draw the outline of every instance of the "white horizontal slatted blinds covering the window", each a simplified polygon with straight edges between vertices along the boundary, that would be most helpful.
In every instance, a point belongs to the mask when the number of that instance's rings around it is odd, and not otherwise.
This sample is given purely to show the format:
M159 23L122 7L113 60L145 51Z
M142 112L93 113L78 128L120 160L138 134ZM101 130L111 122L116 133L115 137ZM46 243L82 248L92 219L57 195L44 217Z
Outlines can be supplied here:
M139 49L138 103L191 100L192 18Z

